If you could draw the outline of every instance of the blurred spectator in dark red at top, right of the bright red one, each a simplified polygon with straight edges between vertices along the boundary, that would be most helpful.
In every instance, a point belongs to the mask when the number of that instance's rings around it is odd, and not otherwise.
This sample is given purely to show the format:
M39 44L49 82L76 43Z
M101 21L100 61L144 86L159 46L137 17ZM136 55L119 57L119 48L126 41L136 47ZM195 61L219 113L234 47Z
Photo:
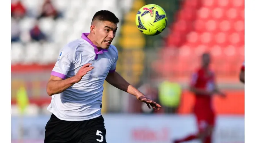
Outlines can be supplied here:
M53 19L57 19L60 13L56 10L51 0L45 0L42 11L38 19L43 17L52 17Z

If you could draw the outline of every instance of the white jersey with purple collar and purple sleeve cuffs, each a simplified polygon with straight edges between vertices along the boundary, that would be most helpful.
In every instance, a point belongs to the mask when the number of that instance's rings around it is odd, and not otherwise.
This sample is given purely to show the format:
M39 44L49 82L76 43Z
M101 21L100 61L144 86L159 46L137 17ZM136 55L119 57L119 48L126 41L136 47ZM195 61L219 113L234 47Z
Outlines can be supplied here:
M47 110L57 118L66 121L82 121L101 115L103 83L109 72L115 72L118 51L110 45L99 50L82 33L82 38L65 45L53 68L51 75L62 79L74 76L87 63L94 68L83 76L79 83L52 96Z

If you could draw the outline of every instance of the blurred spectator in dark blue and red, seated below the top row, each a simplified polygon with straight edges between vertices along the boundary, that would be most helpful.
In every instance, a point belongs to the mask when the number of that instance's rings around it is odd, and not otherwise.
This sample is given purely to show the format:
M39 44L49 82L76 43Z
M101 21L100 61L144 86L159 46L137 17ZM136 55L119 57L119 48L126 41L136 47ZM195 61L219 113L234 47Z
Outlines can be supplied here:
M38 23L30 30L31 39L34 41L46 40L46 35L40 30Z

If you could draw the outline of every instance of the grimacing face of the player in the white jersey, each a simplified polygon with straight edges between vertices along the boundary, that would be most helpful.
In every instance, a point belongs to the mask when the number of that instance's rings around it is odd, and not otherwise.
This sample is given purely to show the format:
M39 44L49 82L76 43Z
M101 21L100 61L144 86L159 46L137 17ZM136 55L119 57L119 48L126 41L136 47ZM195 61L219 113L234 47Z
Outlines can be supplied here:
M100 21L95 27L96 42L101 48L108 48L116 36L117 24Z

